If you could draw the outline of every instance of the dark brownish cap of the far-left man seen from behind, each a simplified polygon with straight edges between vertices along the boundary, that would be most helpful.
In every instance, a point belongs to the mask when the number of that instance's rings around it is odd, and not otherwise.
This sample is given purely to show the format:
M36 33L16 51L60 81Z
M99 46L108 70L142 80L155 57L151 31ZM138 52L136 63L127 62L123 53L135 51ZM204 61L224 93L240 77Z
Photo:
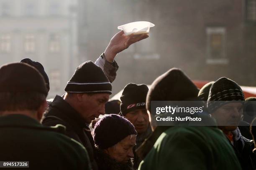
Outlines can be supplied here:
M47 96L44 77L26 63L10 63L0 68L0 92L38 92Z

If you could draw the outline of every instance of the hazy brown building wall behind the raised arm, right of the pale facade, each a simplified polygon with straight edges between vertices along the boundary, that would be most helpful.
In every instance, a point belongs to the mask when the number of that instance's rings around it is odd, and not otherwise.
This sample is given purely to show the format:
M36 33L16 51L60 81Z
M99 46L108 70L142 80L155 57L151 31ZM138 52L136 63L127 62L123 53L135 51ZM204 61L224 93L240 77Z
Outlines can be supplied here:
M256 86L256 0L78 0L79 60L95 60L118 25L146 20L150 37L116 57L113 92L172 67L194 80Z

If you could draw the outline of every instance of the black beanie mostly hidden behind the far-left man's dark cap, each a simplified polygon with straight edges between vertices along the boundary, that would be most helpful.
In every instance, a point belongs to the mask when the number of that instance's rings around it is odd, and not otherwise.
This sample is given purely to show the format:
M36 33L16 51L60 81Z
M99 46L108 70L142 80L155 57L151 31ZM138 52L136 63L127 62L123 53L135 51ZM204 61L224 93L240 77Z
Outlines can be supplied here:
M32 60L29 59L29 58L24 58L24 59L22 59L20 62L24 62L24 63L27 63L27 64L29 64L29 65L35 67L35 68L41 73L41 75L44 77L44 81L45 81L45 83L46 83L46 88L47 88L47 90L48 90L48 92L49 92L49 90L50 90L49 77L48 77L48 75L46 74L46 72L44 71L44 66L41 65L40 62L32 61Z

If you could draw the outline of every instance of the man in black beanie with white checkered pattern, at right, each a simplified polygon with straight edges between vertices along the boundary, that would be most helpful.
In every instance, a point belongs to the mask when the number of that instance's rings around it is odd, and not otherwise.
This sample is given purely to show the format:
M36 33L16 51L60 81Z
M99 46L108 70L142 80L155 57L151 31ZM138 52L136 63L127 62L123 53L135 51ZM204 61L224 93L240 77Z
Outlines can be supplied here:
M221 77L210 88L207 108L217 121L218 128L227 136L243 170L255 170L253 141L244 138L238 128L243 113L244 94L241 87L226 77Z

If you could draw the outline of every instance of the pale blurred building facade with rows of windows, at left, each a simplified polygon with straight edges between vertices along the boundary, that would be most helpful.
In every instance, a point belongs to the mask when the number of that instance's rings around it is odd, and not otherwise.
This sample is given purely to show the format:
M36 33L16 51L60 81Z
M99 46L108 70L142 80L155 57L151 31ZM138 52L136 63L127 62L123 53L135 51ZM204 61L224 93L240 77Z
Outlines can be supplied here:
M0 0L0 64L22 58L41 62L50 80L48 98L63 94L78 64L75 5L74 0Z

